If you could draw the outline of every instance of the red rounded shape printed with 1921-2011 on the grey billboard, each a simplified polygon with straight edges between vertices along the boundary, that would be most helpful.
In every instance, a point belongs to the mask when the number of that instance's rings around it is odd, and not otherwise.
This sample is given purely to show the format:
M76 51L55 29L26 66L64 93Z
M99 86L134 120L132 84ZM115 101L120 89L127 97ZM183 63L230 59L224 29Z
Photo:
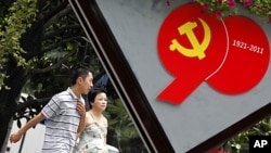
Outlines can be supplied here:
M229 53L221 69L207 82L222 93L243 93L255 87L267 72L268 38L259 25L245 16L228 17L224 24L229 34Z

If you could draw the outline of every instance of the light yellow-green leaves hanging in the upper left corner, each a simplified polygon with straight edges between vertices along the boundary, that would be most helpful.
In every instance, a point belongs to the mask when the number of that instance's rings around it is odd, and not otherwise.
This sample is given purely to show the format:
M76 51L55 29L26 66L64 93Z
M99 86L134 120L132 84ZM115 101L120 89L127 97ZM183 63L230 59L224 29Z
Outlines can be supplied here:
M22 56L20 39L27 28L31 26L37 15L37 0L17 0L9 8L9 13L3 16L0 26L0 86L3 86L5 64L12 55L17 61L17 66L27 66Z

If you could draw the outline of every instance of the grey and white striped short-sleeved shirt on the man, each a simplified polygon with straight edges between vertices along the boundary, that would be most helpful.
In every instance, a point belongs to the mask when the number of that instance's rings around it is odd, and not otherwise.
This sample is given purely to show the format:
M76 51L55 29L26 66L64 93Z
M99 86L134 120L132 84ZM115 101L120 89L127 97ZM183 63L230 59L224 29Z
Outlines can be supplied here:
M42 153L72 153L80 115L76 110L78 99L70 88L55 94L42 109L46 116L46 136Z

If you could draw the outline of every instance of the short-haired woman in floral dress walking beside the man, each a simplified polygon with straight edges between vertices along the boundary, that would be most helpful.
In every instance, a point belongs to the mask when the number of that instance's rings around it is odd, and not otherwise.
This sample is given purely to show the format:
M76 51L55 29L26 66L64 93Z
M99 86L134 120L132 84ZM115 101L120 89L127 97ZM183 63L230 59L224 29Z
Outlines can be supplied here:
M74 153L108 153L106 146L107 119L103 112L107 105L104 89L93 89L88 94L90 111L86 112L85 129L79 136Z

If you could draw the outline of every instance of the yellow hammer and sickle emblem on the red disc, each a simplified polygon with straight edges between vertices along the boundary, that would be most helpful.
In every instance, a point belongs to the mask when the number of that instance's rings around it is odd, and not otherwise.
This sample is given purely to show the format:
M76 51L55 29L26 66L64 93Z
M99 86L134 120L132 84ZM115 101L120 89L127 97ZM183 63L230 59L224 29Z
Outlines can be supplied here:
M171 44L169 47L169 49L171 51L178 50L181 54L189 56L189 58L195 58L197 56L199 60L204 59L205 55L205 51L210 42L210 28L209 26L206 24L205 21L203 21L202 18L199 18L199 22L202 23L203 27L204 27L204 39L203 42L199 43L194 31L193 28L195 28L197 26L197 24L195 22L188 22L182 26L178 27L178 30L180 33L180 35L185 34L193 47L193 49L186 49L184 47L182 47L177 39L172 39L171 40Z

